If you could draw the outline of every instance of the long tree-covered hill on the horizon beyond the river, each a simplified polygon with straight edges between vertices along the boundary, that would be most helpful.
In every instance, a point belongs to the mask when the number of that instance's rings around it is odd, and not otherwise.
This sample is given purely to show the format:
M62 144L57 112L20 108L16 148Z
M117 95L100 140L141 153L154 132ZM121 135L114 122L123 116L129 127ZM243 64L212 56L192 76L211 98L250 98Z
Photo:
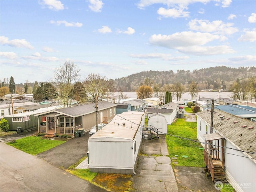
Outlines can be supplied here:
M177 73L170 71L142 71L131 74L127 77L115 79L115 86L118 90L124 92L135 91L144 83L145 78L150 78L154 84L173 84L180 82L183 85L190 84L194 81L198 84L200 90L217 89L222 85L224 89L228 89L230 84L236 80L246 80L250 77L256 77L256 67L239 67L231 68L226 66L217 66L210 68L202 68L200 70L178 70Z

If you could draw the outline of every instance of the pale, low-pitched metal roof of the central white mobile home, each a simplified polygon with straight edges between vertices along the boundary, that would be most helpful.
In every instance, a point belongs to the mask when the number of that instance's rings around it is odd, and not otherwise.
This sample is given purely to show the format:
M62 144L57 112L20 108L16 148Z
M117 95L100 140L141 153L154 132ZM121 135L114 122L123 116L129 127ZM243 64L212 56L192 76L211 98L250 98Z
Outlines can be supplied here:
M106 126L90 136L88 140L131 141L136 136L143 115L144 112L135 111L118 114Z

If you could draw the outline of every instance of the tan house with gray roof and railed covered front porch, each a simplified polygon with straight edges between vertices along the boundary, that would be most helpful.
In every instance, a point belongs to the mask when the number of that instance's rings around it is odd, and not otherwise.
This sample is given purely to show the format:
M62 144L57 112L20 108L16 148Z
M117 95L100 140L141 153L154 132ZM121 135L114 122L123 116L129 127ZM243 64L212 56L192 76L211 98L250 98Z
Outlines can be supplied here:
M112 102L98 102L97 117L95 103L36 114L36 116L42 116L42 122L38 126L38 132L48 135L74 135L75 130L78 129L84 129L85 132L88 132L96 124L96 118L98 124L110 122L116 115L116 106L117 104Z

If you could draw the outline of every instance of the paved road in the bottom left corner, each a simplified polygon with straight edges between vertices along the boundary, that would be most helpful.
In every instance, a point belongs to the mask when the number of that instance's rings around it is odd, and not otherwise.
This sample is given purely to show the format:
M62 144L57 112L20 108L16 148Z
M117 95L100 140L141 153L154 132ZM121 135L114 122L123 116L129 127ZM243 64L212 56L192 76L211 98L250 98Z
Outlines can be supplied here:
M0 191L106 192L3 142L0 142Z

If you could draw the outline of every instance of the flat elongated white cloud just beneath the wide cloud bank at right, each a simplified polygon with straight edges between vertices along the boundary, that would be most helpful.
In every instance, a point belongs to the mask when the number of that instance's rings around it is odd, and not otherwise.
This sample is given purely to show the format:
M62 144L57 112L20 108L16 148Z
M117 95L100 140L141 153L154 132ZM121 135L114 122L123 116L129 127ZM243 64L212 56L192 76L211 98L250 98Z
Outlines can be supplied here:
M192 55L218 55L218 54L230 54L235 51L229 46L191 46L191 47L180 47L179 52L192 54Z

